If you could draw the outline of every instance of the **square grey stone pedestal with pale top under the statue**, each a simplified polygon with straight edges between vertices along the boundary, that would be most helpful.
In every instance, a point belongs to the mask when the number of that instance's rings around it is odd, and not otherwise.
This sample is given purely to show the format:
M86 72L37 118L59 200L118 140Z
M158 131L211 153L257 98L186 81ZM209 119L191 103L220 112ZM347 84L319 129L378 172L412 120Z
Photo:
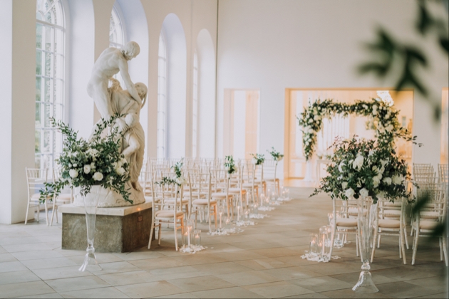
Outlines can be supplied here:
M151 229L152 201L135 206L98 208L93 246L96 252L129 252L148 246ZM86 214L83 206L65 204L62 249L86 251Z

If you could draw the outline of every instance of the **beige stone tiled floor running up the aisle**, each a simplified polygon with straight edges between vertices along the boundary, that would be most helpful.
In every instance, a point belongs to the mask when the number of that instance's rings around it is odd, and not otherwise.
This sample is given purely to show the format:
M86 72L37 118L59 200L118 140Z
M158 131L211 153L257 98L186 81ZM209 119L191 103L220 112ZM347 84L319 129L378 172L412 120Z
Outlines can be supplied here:
M207 250L175 251L172 230L162 246L132 253L98 253L103 271L79 272L83 251L61 249L61 224L45 221L0 226L1 298L448 298L448 268L438 243L420 238L416 266L398 256L396 238L383 237L371 264L379 292L354 293L361 261L355 243L335 249L341 259L316 263L301 258L309 234L326 224L327 196L294 200L264 212L269 217L230 236L207 236ZM43 219L43 215L41 215ZM408 236L409 242L411 237Z

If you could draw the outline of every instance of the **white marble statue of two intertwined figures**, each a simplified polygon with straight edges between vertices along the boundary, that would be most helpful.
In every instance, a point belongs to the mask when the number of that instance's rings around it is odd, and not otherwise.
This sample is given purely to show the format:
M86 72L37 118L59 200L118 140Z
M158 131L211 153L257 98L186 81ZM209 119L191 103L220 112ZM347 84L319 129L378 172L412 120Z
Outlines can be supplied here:
M145 105L148 88L143 83L133 83L128 73L128 61L138 56L140 47L138 43L130 41L124 48L107 48L100 54L93 65L91 79L89 80L88 95L100 112L101 117L108 120L115 114L123 117L115 120L114 127L122 132L120 140L121 151L125 159L130 164L130 181L126 184L126 189L130 192L130 200L133 204L145 202L143 189L138 179L140 169L143 167L143 157L145 152L145 133L140 125L140 109ZM120 72L126 90L120 86L120 82L113 78L113 75ZM93 127L95 130L96 125ZM123 197L109 191L104 199L98 202L100 207L130 206L130 202ZM76 196L74 204L83 206L81 196Z

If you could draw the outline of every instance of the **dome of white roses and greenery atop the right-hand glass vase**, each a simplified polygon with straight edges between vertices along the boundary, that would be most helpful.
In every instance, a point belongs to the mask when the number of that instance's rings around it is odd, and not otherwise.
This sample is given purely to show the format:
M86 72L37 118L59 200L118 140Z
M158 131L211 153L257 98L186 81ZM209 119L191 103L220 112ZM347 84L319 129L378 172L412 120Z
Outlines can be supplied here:
M375 140L337 140L334 156L326 171L328 176L311 194L326 192L332 199L350 199L371 196L373 201L384 198L390 201L411 194L404 181L411 179L407 163L396 156L394 150L383 147Z

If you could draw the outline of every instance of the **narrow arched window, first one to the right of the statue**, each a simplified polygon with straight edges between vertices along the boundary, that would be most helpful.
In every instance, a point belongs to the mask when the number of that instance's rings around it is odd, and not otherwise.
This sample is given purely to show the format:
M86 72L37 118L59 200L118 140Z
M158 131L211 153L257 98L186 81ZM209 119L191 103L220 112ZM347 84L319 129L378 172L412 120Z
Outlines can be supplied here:
M158 158L165 158L167 154L167 43L163 31L160 31L158 55Z

